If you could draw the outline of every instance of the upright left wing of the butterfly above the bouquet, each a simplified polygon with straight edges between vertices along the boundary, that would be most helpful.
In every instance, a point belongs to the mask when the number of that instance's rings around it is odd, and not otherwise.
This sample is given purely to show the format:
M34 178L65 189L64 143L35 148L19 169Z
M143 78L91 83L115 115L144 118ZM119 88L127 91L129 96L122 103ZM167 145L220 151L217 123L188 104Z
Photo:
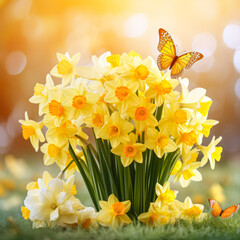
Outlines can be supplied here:
M159 29L159 44L158 51L161 53L158 56L157 64L160 71L169 68L176 57L176 47L170 34L164 29Z

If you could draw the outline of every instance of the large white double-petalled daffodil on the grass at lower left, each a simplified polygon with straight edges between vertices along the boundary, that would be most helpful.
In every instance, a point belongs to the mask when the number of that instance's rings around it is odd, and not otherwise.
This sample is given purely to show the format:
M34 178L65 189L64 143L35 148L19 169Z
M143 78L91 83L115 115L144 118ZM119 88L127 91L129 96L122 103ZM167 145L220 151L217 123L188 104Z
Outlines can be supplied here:
M74 176L67 182L53 178L48 186L43 179L38 179L38 188L29 190L24 200L34 227L68 226L78 223L78 211L84 207L79 199L71 194L73 183Z

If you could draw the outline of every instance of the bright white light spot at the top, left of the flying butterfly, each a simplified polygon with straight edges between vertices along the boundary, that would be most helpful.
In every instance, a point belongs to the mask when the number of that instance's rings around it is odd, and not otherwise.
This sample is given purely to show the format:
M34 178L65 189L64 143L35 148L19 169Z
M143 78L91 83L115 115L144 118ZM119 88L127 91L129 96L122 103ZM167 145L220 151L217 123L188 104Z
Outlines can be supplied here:
M144 13L135 13L124 23L124 33L129 38L142 36L147 30L148 19Z

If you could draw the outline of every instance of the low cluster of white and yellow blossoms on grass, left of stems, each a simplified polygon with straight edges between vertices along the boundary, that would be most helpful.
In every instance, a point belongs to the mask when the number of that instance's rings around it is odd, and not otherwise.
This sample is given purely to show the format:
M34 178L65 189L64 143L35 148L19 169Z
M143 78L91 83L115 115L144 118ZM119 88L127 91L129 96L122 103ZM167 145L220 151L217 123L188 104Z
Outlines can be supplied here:
M85 229L96 227L97 213L74 197L77 191L73 183L74 176L64 182L60 177L52 178L47 171L37 182L30 182L27 185L25 206L21 208L24 219L30 219L34 228L78 224Z

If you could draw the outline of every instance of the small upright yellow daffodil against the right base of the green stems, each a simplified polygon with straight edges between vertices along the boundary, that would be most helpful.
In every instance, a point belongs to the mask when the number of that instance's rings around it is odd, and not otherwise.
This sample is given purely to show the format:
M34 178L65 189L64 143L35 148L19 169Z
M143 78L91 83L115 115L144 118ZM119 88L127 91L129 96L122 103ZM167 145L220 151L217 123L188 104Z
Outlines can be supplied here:
M156 184L157 200L156 204L173 202L177 196L178 191L170 189L170 182L166 182L163 186Z

